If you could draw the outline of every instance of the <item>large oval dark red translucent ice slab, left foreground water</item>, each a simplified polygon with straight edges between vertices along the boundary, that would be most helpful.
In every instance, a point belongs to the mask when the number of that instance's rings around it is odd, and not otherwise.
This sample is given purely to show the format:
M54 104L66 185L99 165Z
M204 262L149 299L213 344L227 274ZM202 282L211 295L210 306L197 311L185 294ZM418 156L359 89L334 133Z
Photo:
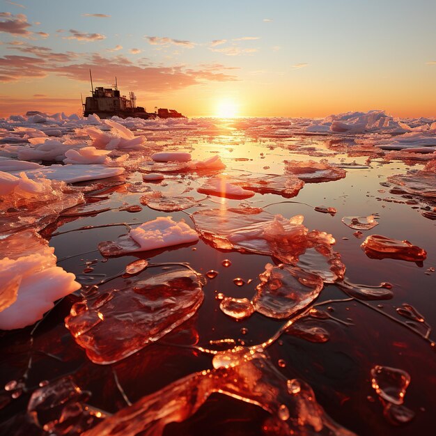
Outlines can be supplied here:
M158 341L191 318L203 302L203 281L175 270L132 281L75 303L65 325L96 364L112 364Z

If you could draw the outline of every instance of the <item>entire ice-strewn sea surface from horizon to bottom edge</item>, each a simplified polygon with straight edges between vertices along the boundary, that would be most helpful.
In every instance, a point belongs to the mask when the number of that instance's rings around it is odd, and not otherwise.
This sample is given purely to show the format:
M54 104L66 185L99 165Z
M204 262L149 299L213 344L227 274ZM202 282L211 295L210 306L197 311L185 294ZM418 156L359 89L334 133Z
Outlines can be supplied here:
M430 434L435 138L0 120L0 434Z

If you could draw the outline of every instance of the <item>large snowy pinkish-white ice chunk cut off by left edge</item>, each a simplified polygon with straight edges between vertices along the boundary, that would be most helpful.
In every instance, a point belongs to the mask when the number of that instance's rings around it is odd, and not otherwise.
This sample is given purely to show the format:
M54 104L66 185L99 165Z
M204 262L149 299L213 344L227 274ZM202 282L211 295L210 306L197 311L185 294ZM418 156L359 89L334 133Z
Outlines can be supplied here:
M32 325L52 309L56 299L80 288L75 275L56 266L54 249L35 231L14 233L0 240L0 288L13 289L1 294L0 329Z

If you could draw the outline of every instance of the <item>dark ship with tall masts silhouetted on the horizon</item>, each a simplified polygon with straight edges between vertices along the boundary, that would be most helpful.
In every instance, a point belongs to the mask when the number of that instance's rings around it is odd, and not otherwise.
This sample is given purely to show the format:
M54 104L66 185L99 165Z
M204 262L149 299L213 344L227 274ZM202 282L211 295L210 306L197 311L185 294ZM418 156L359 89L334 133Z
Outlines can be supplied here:
M98 115L100 118L111 118L119 116L120 118L143 118L144 120L153 118L186 118L180 112L174 109L164 109L155 107L154 112L147 112L144 107L137 106L137 98L132 91L129 97L121 95L118 90L118 82L115 77L115 85L111 88L98 86L93 87L93 77L89 70L91 78L91 97L86 97L85 102L82 99L84 116L91 114Z

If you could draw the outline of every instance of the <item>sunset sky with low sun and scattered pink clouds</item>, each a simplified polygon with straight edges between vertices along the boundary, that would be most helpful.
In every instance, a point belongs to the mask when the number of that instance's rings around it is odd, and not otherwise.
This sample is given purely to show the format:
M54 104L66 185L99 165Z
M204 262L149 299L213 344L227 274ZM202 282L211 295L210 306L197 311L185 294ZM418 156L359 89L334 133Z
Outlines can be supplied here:
M436 117L434 0L0 0L0 116L94 86L187 116Z

